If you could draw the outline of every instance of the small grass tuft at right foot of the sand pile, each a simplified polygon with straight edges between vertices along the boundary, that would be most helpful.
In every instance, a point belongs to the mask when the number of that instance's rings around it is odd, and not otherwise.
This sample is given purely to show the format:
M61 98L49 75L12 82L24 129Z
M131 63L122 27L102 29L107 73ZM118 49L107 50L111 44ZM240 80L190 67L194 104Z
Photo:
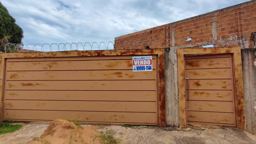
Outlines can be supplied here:
M113 132L107 131L106 133L101 133L98 137L101 139L101 144L119 144L120 139L115 139L113 137Z

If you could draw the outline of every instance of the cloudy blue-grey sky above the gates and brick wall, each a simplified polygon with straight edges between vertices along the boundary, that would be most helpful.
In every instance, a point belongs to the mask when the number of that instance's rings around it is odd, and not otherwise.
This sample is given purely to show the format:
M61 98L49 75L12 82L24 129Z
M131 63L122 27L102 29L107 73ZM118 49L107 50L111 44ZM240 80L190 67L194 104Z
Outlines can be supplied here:
M0 0L23 29L24 44L114 42L118 36L246 1Z

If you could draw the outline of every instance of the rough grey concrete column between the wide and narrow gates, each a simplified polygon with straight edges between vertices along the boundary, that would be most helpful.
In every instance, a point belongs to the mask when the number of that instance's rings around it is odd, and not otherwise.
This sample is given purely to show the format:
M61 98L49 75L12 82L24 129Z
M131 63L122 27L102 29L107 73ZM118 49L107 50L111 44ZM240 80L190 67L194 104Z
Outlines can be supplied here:
M165 49L166 126L179 127L177 49Z

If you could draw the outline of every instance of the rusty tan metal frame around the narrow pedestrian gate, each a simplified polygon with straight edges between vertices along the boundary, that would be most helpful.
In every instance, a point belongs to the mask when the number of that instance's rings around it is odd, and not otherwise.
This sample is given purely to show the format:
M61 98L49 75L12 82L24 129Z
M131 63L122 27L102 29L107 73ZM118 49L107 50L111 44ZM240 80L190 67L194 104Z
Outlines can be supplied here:
M186 103L185 103L186 99L184 97L184 95L185 95L184 55L227 54L227 53L232 54L236 125L237 125L237 128L239 128L239 129L246 129L246 127L245 127L245 110L244 110L242 59L241 59L241 48L240 47L177 49L179 119L180 119L180 126L182 128L187 127Z

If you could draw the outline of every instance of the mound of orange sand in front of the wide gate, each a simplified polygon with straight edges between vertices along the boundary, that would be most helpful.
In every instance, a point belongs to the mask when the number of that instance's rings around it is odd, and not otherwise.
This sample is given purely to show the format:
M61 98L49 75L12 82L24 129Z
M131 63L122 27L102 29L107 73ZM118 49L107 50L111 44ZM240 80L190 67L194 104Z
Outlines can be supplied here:
M54 120L41 136L29 144L99 144L98 126L80 127L67 120Z

